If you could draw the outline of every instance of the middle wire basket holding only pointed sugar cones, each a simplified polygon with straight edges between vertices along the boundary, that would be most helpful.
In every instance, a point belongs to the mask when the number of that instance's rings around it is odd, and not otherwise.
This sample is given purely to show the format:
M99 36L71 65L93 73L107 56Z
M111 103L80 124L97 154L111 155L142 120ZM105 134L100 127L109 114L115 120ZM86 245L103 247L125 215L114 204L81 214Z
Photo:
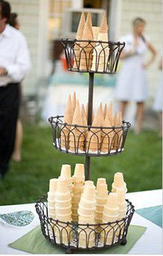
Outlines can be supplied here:
M53 145L58 151L73 155L117 155L124 150L131 124L122 121L119 127L78 126L63 123L64 116L50 117Z

